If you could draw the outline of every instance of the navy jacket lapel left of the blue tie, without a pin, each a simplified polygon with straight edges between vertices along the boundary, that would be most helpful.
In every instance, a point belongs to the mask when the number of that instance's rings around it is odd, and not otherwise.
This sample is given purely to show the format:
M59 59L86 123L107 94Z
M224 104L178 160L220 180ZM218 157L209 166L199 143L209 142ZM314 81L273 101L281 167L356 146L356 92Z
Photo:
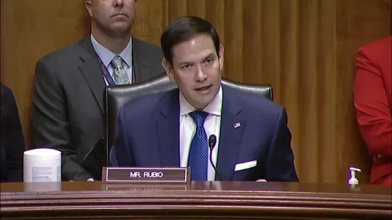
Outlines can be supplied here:
M156 132L161 166L180 166L180 101L176 88L166 93L158 105Z

